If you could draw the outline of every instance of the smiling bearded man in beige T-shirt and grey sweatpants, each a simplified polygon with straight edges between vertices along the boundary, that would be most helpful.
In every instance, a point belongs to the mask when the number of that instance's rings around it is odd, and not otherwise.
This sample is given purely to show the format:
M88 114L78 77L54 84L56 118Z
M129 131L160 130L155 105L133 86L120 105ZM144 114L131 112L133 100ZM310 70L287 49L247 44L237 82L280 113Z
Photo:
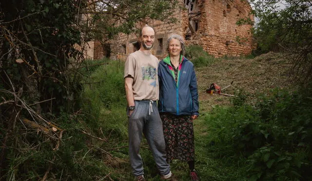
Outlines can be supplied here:
M173 181L170 165L166 162L162 122L156 105L159 96L157 77L159 61L150 53L155 40L154 29L149 26L143 27L139 40L141 47L129 55L124 71L128 101L130 163L136 180L145 181L142 159L139 154L142 133L144 133L161 179Z

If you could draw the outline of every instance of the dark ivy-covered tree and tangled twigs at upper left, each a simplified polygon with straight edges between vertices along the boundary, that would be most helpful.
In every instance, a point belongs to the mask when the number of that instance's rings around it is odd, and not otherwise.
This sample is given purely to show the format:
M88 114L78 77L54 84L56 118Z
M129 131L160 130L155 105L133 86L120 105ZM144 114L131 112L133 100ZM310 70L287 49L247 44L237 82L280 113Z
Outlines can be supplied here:
M75 43L80 43L80 31L73 22L77 5L70 0L1 3L0 16L4 23L0 32L3 42L0 84L12 89L8 79L12 80L16 89L23 87L29 91L23 95L30 103L55 98L53 107L51 101L40 104L43 111L51 108L49 111L53 113L61 109L68 111L72 108L68 102L81 90L79 83L70 80L66 71L69 59L76 59L79 54L74 48ZM18 64L16 59L24 62Z

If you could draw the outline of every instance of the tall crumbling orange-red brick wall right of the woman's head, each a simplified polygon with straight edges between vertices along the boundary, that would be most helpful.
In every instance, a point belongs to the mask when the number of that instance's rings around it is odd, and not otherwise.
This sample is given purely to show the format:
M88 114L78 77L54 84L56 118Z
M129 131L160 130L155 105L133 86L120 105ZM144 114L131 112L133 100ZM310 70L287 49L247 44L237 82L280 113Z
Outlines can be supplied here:
M198 31L187 44L200 45L215 57L248 55L253 49L251 25L236 25L250 18L251 6L242 0L198 0L201 18Z

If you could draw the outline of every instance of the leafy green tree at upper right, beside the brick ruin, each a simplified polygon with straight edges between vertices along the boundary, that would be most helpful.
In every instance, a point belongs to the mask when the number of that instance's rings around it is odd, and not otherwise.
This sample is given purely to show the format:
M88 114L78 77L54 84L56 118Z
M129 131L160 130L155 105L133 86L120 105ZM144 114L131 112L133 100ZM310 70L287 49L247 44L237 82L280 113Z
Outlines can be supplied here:
M292 70L297 79L312 78L312 1L311 0L249 0L259 20L254 37L259 53L284 51L290 53Z

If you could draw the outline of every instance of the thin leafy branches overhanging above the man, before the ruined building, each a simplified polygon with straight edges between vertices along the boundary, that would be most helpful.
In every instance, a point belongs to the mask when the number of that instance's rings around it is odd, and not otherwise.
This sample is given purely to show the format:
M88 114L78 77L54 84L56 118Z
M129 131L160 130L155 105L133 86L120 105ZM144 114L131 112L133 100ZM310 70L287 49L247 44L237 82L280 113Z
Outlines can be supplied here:
M179 7L178 0L107 0L93 2L85 9L91 19L80 22L85 40L113 39L118 33L138 33L137 22L151 20L176 22L173 9ZM104 40L104 41L103 41Z

